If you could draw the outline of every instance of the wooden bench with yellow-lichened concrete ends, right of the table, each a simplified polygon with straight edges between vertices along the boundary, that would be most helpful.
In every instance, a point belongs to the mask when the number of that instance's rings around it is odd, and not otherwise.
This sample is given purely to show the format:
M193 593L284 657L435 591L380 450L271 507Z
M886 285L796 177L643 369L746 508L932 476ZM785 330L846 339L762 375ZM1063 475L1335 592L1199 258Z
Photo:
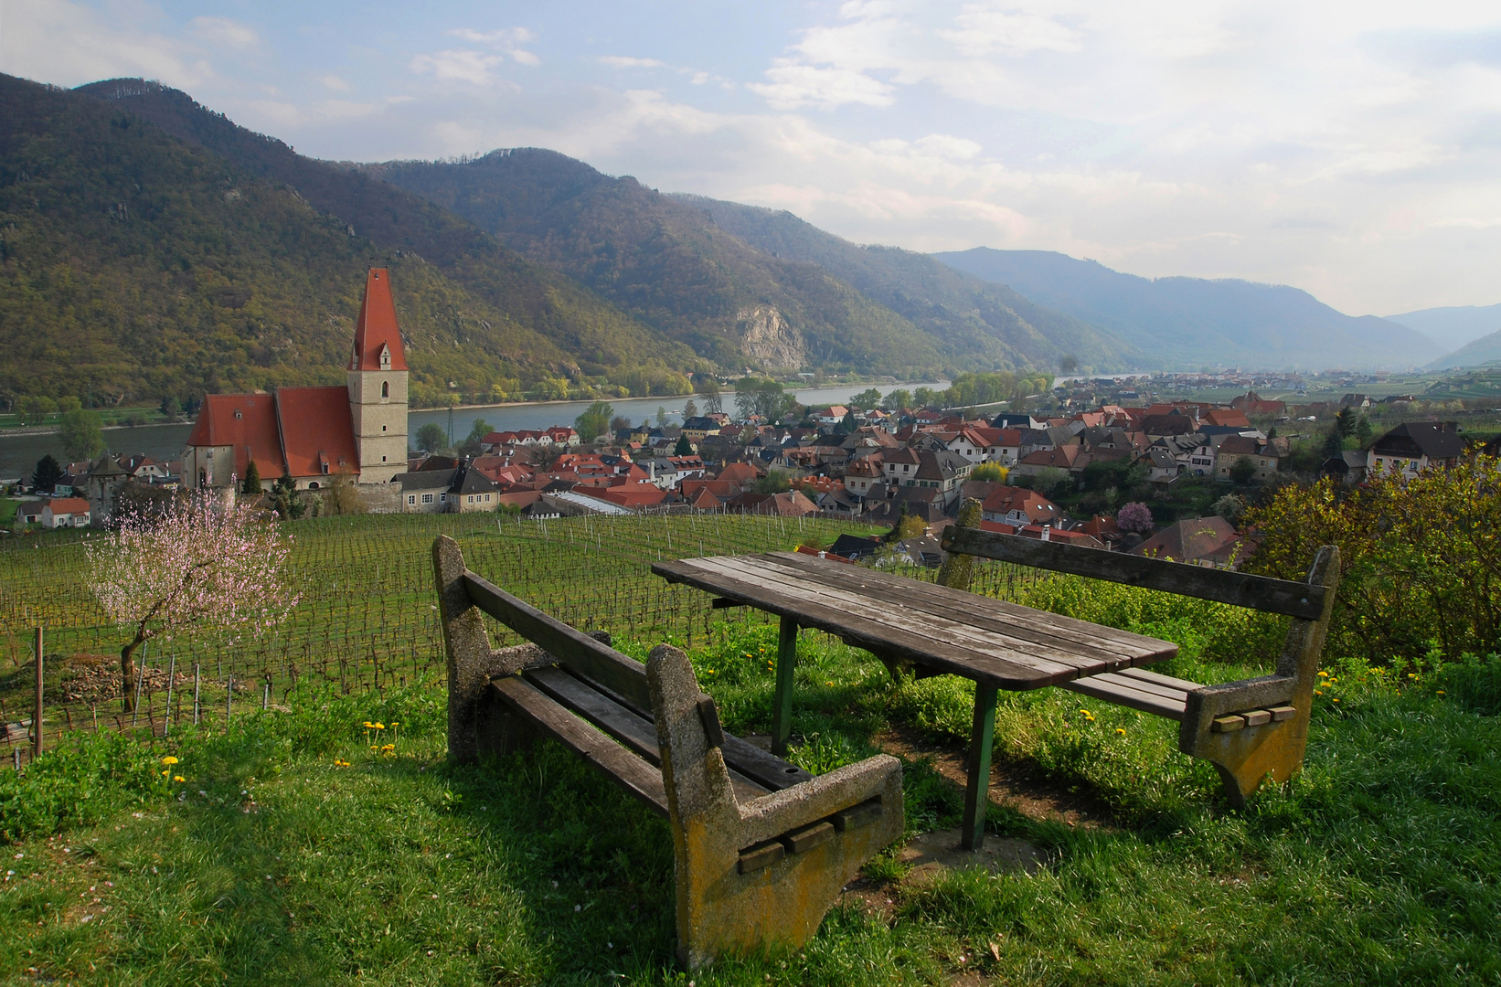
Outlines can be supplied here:
M1091 699L1177 720L1178 750L1211 762L1238 806L1270 776L1282 783L1303 766L1313 686L1339 586L1339 549L1321 548L1303 582L982 531L977 501L943 536L949 561L940 582L968 590L973 558L1160 590L1291 616L1274 675L1201 686L1141 669L1058 682ZM991 717L994 720L994 716ZM979 711L976 723L980 723Z

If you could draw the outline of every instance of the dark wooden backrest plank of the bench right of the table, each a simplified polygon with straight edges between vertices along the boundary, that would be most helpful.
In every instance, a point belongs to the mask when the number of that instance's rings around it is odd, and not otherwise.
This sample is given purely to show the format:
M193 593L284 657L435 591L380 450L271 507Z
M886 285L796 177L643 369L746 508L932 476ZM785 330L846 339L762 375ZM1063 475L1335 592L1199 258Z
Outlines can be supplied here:
M1318 620L1324 612L1324 586L1306 582L1270 579L1225 568L1205 568L1159 558L1126 555L1124 552L1085 549L1078 544L1040 542L998 531L959 528L958 525L944 530L943 548L946 552L964 552L1003 562L1031 566L1033 568L1123 582L1301 620Z

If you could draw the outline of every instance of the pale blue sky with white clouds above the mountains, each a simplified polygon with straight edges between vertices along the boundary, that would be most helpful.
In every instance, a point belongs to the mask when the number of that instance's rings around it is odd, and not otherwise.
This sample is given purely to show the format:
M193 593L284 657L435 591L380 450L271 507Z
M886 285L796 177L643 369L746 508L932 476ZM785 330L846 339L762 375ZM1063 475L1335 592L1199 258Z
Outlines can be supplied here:
M549 147L857 243L1501 303L1493 0L0 0L0 70L327 159Z

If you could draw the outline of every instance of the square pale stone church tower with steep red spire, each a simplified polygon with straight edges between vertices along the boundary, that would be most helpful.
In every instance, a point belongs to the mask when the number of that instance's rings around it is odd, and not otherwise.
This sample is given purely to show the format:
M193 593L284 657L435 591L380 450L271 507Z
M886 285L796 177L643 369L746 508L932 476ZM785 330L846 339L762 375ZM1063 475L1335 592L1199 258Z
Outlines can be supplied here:
M365 276L348 376L360 483L389 483L407 471L407 356L384 267Z

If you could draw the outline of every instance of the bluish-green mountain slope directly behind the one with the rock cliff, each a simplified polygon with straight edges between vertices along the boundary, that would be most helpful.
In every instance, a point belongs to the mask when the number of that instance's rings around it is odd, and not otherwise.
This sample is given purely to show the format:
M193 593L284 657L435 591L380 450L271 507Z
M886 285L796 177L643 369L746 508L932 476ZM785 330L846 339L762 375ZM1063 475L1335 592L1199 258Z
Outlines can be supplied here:
M787 210L674 195L708 213L746 243L794 261L818 264L863 296L911 320L955 352L1010 356L1030 366L1055 368L1064 354L1099 370L1136 366L1141 356L1126 340L1073 316L1045 309L1004 285L955 270L928 254L860 246L826 232Z

